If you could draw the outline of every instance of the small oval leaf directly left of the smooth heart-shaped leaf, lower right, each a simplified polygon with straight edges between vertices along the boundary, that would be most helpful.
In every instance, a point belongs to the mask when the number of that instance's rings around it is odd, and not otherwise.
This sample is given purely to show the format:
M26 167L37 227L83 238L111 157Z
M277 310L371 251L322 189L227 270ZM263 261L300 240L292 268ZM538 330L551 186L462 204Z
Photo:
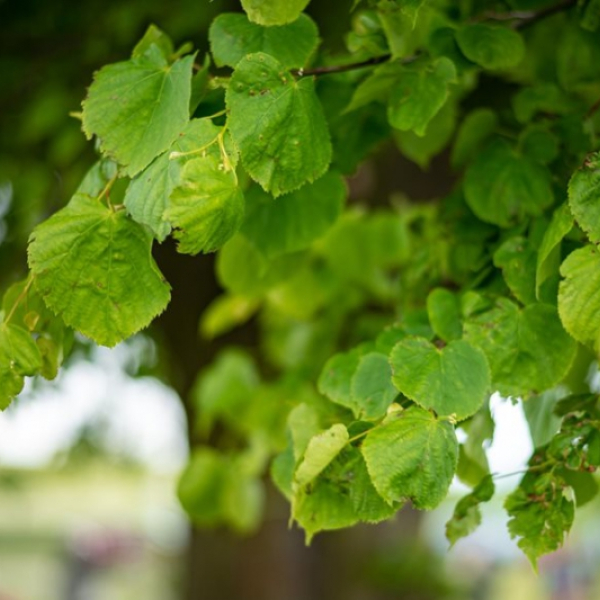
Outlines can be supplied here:
M368 352L360 357L350 383L351 407L362 419L383 417L398 392L385 354Z

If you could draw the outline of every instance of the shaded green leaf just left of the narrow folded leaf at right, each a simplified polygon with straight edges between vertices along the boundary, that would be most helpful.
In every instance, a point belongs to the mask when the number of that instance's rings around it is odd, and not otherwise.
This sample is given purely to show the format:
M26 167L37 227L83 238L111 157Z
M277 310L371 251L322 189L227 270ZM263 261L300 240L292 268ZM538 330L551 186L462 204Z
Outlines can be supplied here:
M523 304L536 301L536 263L536 251L522 236L509 238L494 252L494 265L502 269L506 285Z

